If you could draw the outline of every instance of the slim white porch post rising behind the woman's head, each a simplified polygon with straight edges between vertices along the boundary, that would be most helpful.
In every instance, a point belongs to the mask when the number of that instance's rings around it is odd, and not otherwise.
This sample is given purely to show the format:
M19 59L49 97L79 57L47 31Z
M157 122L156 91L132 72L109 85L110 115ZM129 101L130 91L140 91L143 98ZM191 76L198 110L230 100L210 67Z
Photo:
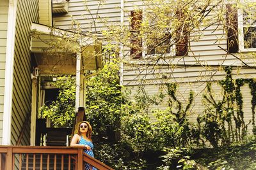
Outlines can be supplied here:
M81 50L76 54L76 111L78 111L80 104L80 90L81 88Z

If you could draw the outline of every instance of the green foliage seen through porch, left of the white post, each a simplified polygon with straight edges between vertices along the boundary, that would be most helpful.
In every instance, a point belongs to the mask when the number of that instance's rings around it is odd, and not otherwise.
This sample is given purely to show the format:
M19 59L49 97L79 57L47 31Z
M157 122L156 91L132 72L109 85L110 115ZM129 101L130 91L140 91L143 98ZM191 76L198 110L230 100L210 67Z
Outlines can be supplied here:
M54 127L73 127L76 103L76 80L71 76L58 77L52 85L60 89L57 100L40 108L39 117L49 118Z

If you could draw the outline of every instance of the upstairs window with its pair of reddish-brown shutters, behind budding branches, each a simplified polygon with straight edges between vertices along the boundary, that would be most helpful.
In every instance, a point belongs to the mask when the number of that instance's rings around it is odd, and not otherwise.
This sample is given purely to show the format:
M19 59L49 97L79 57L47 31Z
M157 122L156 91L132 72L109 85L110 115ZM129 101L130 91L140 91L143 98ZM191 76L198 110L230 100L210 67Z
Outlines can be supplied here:
M185 20L182 12L178 15L164 14L163 18L152 11L143 11L143 13L142 11L131 11L131 57L140 59L142 56L150 57L156 54L188 55L186 25L180 22L180 29L173 31L171 24L173 17L179 17L180 21ZM143 28L141 23L143 23ZM141 34L142 29L145 32L144 35ZM172 38L172 34L175 34L175 39Z

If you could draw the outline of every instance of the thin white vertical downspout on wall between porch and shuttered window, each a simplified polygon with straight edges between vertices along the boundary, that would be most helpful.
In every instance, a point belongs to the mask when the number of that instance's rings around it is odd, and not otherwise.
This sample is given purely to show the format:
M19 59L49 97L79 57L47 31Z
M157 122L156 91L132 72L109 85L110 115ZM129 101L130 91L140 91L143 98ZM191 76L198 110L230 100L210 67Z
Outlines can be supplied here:
M121 30L124 28L124 0L120 0L121 11L120 11L120 22L121 22ZM124 85L124 63L122 62L124 58L124 45L120 43L120 85Z

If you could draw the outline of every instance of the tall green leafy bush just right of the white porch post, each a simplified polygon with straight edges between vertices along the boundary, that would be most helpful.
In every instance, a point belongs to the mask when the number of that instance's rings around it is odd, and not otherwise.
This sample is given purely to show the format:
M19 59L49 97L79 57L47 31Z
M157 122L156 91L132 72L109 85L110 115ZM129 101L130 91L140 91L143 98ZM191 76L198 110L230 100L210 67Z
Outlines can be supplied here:
M94 76L86 81L86 120L100 139L115 139L119 128L121 106L125 98L119 85L118 65L109 62Z

